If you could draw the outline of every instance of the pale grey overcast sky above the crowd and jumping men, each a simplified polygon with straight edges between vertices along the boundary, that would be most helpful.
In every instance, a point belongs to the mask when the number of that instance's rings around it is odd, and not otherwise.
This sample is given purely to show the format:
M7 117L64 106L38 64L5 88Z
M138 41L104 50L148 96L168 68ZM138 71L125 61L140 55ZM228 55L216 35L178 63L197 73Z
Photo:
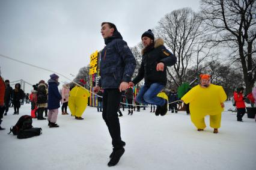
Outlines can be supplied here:
M200 0L39 1L0 0L0 54L62 73L73 79L104 47L102 22L113 22L130 47L173 10L199 10ZM48 71L0 57L2 77L29 83L48 80ZM60 77L59 81L67 81ZM30 89L30 87L29 87ZM27 90L26 90L27 91ZM28 92L28 91L27 91Z

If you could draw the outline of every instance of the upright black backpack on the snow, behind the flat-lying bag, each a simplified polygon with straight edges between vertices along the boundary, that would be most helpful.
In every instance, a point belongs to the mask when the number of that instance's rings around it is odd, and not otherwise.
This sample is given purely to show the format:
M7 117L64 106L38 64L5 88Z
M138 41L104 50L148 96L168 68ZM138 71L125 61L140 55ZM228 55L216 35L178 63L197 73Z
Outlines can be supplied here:
M17 133L23 129L31 129L32 126L32 117L29 115L23 115L22 117L19 118L19 120L17 121L17 123L15 124L15 126L13 126L13 128L10 128L10 132L8 134L10 134L11 132L13 132L13 135L17 135Z

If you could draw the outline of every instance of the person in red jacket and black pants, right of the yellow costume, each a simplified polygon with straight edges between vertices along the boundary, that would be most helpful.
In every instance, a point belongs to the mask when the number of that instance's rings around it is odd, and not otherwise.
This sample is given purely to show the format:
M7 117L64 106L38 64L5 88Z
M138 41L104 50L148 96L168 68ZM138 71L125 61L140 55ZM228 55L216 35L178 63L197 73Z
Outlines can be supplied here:
M237 88L234 92L234 100L236 101L236 108L237 108L237 121L243 122L242 118L245 115L245 96L243 96L243 87Z

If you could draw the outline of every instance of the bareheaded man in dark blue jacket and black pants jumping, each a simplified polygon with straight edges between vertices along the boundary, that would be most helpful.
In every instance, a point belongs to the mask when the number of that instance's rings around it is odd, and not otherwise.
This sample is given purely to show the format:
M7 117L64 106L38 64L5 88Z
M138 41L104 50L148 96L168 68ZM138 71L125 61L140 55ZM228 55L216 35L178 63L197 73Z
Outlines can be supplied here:
M101 53L99 86L94 87L94 92L97 93L100 87L104 90L102 117L108 126L113 145L108 166L114 166L123 155L123 147L126 144L121 140L117 114L121 92L129 87L136 61L126 41L123 40L113 23L103 22L101 33L106 46Z

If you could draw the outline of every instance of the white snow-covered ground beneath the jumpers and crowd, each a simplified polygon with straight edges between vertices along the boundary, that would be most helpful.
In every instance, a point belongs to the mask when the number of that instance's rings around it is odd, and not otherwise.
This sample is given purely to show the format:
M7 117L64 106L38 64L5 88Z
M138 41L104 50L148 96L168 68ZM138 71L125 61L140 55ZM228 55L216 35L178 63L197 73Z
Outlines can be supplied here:
M96 108L88 107L82 117L58 115L59 128L49 129L47 120L33 120L43 134L29 139L7 135L21 115L30 115L30 105L4 117L0 132L0 169L256 169L256 123L236 113L225 103L222 127L213 134L206 117L207 128L197 132L185 112L156 117L146 111L120 118L121 137L126 152L117 166L108 168L112 151L111 138L105 122Z

